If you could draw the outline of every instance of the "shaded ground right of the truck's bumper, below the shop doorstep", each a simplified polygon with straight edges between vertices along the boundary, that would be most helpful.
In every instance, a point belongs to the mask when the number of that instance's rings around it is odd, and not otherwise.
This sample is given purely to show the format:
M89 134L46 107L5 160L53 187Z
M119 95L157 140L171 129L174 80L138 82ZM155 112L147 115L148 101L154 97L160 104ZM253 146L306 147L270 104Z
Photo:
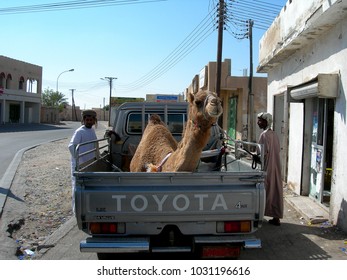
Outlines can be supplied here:
M243 260L329 260L346 259L347 235L335 226L283 222L280 227L264 222L256 236L260 250L244 250Z

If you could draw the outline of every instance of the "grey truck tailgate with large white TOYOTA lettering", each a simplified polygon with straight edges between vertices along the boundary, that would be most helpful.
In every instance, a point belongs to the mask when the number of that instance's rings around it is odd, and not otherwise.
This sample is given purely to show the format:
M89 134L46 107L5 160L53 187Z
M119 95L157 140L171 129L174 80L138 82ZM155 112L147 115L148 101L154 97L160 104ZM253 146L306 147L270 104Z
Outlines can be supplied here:
M84 222L255 220L263 216L263 180L262 172L79 173L76 217Z

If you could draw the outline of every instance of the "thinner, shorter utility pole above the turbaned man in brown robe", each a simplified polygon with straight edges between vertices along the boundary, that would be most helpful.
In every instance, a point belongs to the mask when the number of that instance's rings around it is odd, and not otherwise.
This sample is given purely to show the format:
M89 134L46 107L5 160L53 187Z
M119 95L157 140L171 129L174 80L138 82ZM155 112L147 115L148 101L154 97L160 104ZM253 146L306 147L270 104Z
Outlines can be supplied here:
M248 101L249 101L249 139L254 139L254 93L253 93L253 20L248 20L248 38L249 38L249 79L248 79Z

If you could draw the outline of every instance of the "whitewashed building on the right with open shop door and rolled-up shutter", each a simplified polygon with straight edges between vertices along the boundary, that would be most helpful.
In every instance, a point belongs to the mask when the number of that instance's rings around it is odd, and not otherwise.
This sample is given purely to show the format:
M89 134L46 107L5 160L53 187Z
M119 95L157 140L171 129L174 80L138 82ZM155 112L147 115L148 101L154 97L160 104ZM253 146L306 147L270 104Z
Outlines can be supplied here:
M347 231L347 0L289 0L260 41L282 173Z

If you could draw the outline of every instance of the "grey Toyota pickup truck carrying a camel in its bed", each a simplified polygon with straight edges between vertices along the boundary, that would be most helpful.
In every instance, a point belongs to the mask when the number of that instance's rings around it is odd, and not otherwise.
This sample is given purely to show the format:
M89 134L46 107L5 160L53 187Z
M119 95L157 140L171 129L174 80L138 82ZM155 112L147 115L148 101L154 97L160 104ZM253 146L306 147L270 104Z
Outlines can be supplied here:
M237 258L243 248L261 248L254 233L264 216L265 172L247 151L261 147L228 139L216 125L196 171L129 172L151 114L180 139L185 102L124 103L113 129L94 141L94 159L79 164L76 157L75 215L89 235L80 251L99 259L130 253Z

